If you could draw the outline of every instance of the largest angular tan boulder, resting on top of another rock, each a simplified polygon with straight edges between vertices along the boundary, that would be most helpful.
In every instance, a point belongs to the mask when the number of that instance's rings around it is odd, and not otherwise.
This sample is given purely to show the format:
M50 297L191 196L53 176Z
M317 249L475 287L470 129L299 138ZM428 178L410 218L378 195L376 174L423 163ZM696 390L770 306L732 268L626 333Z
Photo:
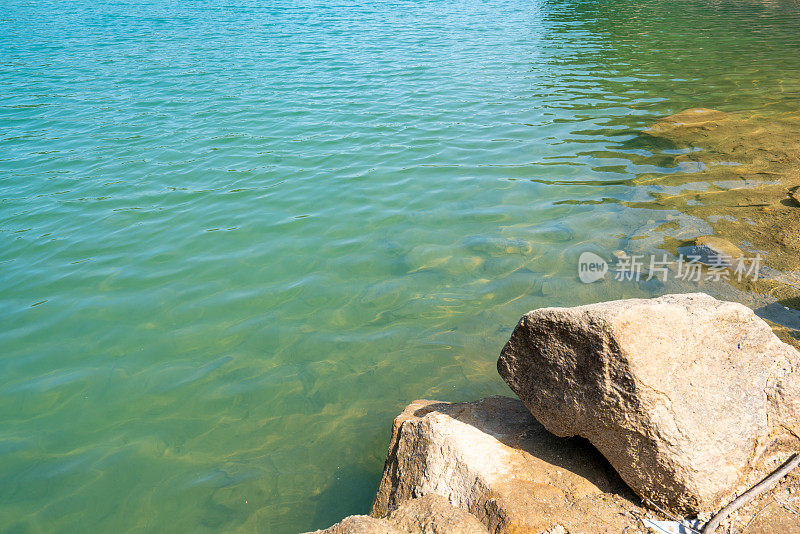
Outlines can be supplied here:
M532 311L497 366L549 431L679 513L715 511L800 447L800 353L705 294Z

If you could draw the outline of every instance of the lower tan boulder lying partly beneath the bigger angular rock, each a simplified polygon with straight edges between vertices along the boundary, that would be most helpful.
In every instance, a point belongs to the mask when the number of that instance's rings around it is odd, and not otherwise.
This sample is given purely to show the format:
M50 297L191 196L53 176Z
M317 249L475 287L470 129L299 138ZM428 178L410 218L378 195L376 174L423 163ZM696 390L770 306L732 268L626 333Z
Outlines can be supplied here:
M508 397L415 401L395 419L372 515L431 494L496 534L619 533L643 512L585 440L550 434Z

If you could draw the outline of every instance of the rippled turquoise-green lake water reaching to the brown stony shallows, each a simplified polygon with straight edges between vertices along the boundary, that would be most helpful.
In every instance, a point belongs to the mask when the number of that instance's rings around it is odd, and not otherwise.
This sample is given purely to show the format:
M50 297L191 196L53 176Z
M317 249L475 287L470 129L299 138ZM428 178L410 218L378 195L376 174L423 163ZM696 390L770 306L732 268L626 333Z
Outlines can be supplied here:
M524 312L671 289L577 256L677 215L654 119L800 109L800 4L4 0L0 88L0 529L293 533Z

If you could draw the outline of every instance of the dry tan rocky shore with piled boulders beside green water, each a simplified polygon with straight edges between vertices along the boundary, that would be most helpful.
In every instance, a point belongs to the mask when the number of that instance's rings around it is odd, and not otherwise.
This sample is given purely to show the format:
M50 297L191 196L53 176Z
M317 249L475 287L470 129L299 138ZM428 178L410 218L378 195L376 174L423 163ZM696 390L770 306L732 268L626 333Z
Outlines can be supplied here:
M370 515L317 533L700 532L800 452L800 352L702 293L532 311L498 371L519 399L412 402ZM798 488L716 532L800 532Z

